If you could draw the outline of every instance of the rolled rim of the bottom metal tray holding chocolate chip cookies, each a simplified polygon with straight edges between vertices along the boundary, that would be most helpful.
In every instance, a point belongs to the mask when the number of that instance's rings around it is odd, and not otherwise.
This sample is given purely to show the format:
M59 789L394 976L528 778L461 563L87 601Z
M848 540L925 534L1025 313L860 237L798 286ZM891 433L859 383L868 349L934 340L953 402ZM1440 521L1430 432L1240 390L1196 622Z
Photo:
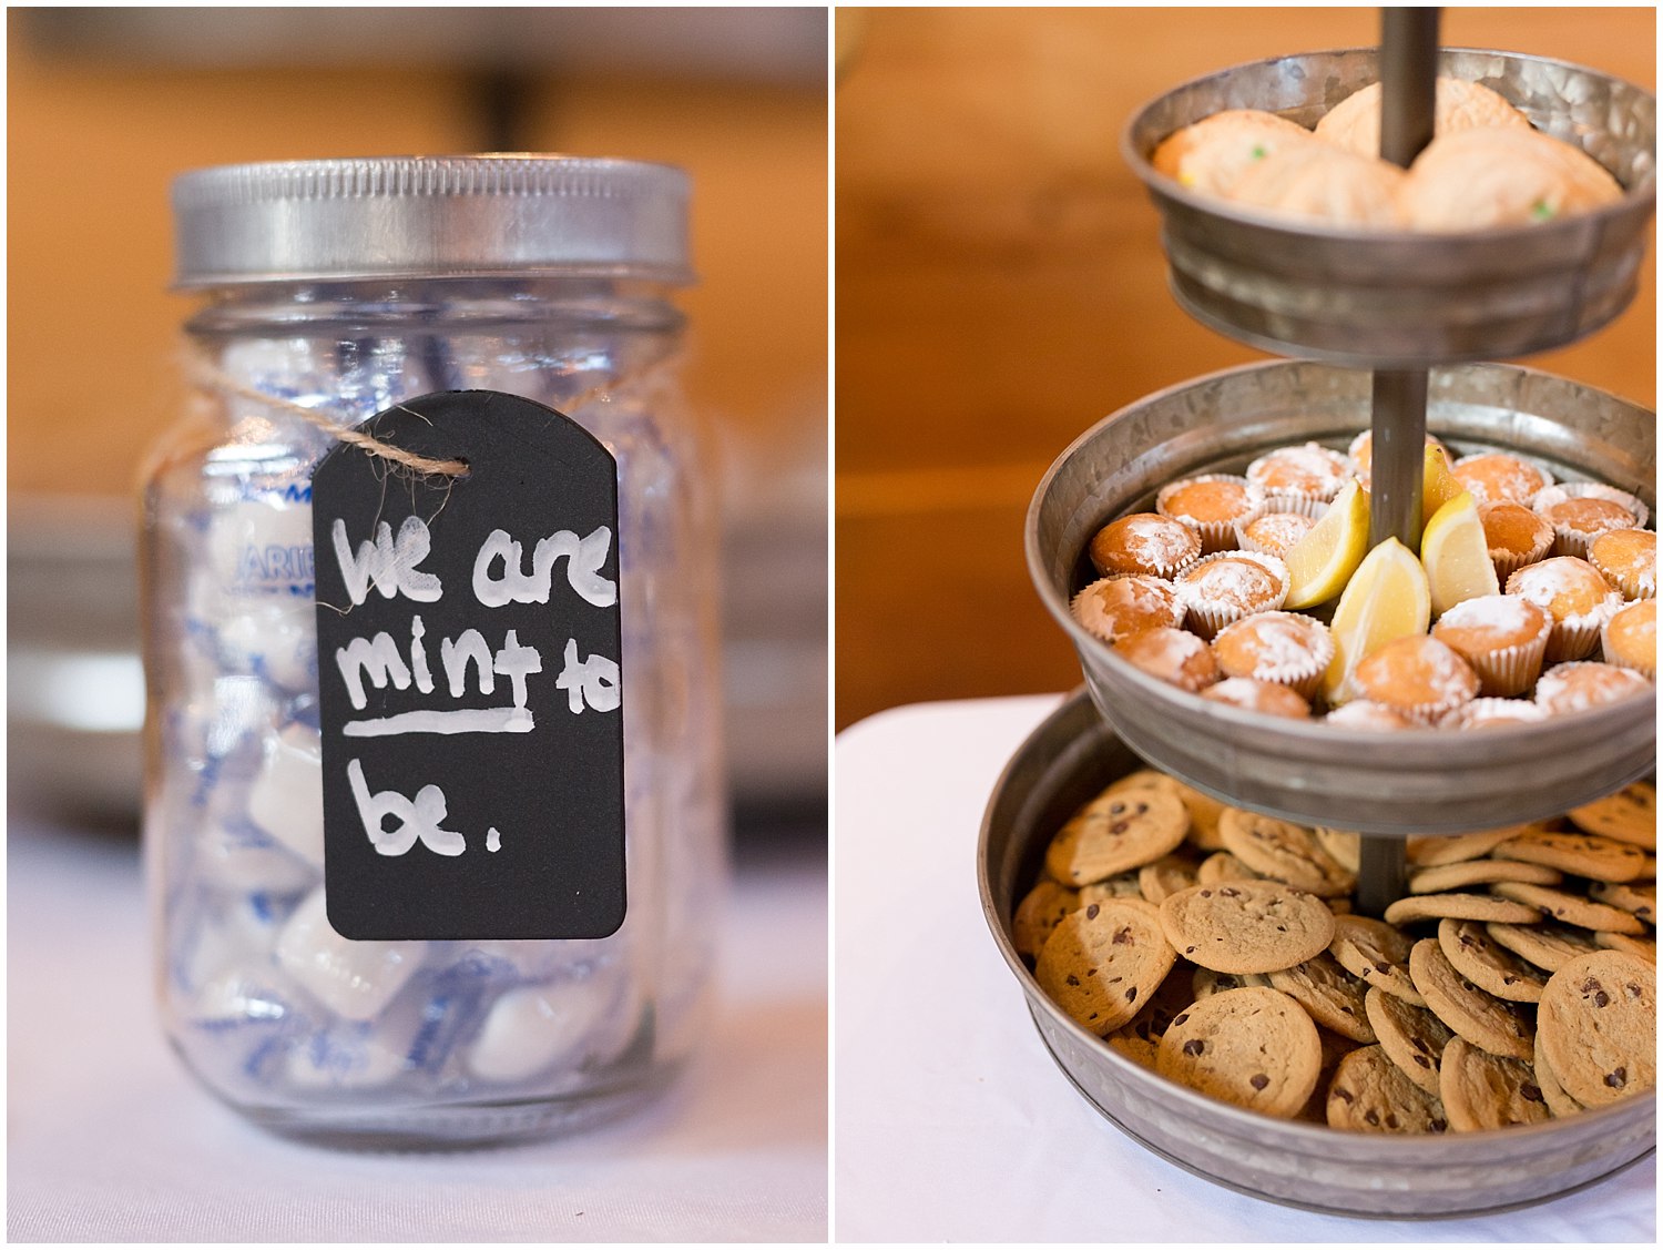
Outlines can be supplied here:
M1111 1067L1114 1067L1124 1080L1131 1080L1137 1085L1159 1090L1162 1097L1166 1095L1176 1097L1179 1102L1186 1104L1197 1115L1209 1115L1221 1119L1232 1128L1239 1128L1244 1132L1254 1130L1254 1132L1285 1133L1289 1145L1300 1143L1312 1148L1322 1145L1332 1145L1335 1140L1335 1133L1340 1132L1337 1128L1325 1128L1322 1125L1304 1124L1300 1120L1279 1120L1272 1115L1261 1115L1257 1112L1249 1112L1242 1107L1236 1107L1227 1102L1219 1102L1217 1099L1209 1099L1186 1085L1166 1080L1164 1077L1157 1077L1156 1074L1139 1067L1133 1060L1118 1054L1114 1047L1111 1047L1101 1037L1079 1027L1079 1024L1076 1024L1073 1017L1069 1017L1063 1009L1053 1004L1051 999L1046 995L1046 992L1039 989L1039 982L1034 979L1033 972L1029 972L1028 965L1023 964L1021 955L1016 954L1016 947L1011 944L1009 934L1006 932L999 912L993 902L993 879L988 872L989 844L993 841L993 811L999 804L999 799L1004 796L1011 776L1016 772L1016 762L1023 756L1038 749L1039 741L1046 736L1049 726L1054 721L1063 719L1074 709L1076 704L1079 704L1081 701L1089 701L1089 697L1091 696L1086 692L1084 687L1076 687L1068 694L1068 697L1056 711L1046 716L1046 719L1041 721L1034 727L1034 731L1023 739L1021 746L1016 747L1016 751L1006 761L1004 767L999 771L999 779L994 782L993 792L988 797L988 806L983 809L981 831L976 837L976 889L978 894L981 895L981 917L988 925L988 932L993 934L993 942L994 945L998 945L999 955L1004 957L1006 967L1009 967L1011 974L1016 977L1016 982L1018 985L1021 985L1023 994L1028 999L1029 1005L1031 1007L1043 1005L1046 1014L1053 1020L1061 1024L1064 1029L1068 1029L1076 1040L1093 1047L1098 1054L1108 1055ZM1113 729L1104 726L1104 732L1113 734ZM1034 1025L1034 1030L1038 1032L1038 1024ZM1041 1042L1044 1042L1043 1035ZM1046 1045L1046 1049L1049 1050L1049 1045ZM1656 1090L1646 1090L1645 1094L1636 1095L1636 1099L1650 1100L1653 1104L1651 1119L1656 1119L1656 1110L1655 1110ZM1093 1105L1096 1104L1093 1102ZM1596 1119L1593 1117L1615 1119L1616 1115L1635 1115L1636 1114L1633 1110L1635 1105L1636 1105L1635 1099L1625 1099L1623 1102L1616 1102L1608 1107L1590 1109L1577 1117L1577 1124L1578 1125L1596 1124ZM1482 1152L1483 1147L1487 1145L1495 1145L1500 1142L1513 1142L1513 1143L1522 1142L1525 1140L1525 1135L1535 1135L1540 1138L1547 1133L1552 1133L1553 1128L1555 1128L1553 1120L1543 1120L1538 1124L1510 1125L1507 1128L1483 1128L1470 1133L1447 1135L1447 1137L1438 1137L1437 1140L1472 1142L1473 1147ZM1347 1135L1345 1140L1352 1140L1352 1137ZM1404 1163L1414 1162L1417 1153L1424 1153L1427 1138L1379 1133L1379 1135L1369 1135L1367 1142L1370 1143L1370 1150L1377 1147L1379 1152L1385 1155L1385 1158L1382 1160L1385 1165L1400 1167ZM1209 1180L1212 1178L1211 1173L1207 1178ZM1470 1212L1460 1212L1460 1215L1467 1213Z

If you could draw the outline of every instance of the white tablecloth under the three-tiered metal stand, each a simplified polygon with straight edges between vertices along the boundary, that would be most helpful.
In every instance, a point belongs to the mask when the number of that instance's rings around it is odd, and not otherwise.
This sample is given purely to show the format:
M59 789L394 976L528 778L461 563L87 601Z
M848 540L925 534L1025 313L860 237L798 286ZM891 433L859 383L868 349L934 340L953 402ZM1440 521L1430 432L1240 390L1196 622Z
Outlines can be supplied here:
M1643 1242L1655 1155L1462 1220L1347 1220L1201 1180L1123 1135L1051 1060L976 894L1009 756L1058 696L920 704L836 741L838 1242Z

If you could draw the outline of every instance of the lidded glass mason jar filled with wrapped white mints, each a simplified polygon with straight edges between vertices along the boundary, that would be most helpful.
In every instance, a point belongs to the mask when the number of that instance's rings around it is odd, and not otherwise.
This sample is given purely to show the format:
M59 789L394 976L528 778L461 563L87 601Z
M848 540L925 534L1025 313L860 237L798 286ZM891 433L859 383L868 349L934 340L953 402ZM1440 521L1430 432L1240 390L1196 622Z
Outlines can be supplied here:
M175 185L178 286L206 303L190 418L143 484L155 972L186 1067L256 1122L564 1132L662 1087L698 1037L723 802L715 501L674 378L685 200L674 168L537 156ZM557 408L617 461L629 905L609 937L353 942L323 915L311 474L329 423L457 389Z

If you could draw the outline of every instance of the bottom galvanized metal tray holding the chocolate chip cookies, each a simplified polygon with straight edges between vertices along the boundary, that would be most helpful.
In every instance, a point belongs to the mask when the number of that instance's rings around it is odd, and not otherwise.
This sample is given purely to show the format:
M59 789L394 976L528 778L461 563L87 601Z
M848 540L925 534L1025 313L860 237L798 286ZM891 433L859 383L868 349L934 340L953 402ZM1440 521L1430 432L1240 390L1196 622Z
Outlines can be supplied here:
M1011 757L978 846L981 909L1058 1067L1118 1128L1164 1158L1274 1202L1394 1218L1475 1215L1553 1198L1650 1153L1656 1095L1478 1133L1389 1137L1276 1120L1162 1080L1076 1025L1039 989L1011 939L1016 900L1044 847L1089 797L1141 761L1084 692Z

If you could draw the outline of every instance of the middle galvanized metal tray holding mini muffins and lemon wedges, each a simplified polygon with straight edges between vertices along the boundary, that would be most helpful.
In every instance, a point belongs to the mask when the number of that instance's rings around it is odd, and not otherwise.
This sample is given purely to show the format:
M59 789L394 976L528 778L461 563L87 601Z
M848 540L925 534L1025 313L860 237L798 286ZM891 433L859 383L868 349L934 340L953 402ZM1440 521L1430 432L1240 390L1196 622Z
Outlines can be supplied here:
M1079 652L1104 719L1139 756L1236 806L1379 834L1488 829L1563 812L1646 774L1656 694L1537 724L1460 732L1342 729L1221 706L1133 667L1083 629L1069 599L1096 579L1091 536L1151 511L1164 483L1239 473L1307 439L1344 448L1369 428L1370 376L1330 365L1249 365L1151 394L1081 434L1028 509L1028 571ZM1457 453L1532 456L1655 511L1655 416L1605 391L1510 365L1430 376L1427 428Z

